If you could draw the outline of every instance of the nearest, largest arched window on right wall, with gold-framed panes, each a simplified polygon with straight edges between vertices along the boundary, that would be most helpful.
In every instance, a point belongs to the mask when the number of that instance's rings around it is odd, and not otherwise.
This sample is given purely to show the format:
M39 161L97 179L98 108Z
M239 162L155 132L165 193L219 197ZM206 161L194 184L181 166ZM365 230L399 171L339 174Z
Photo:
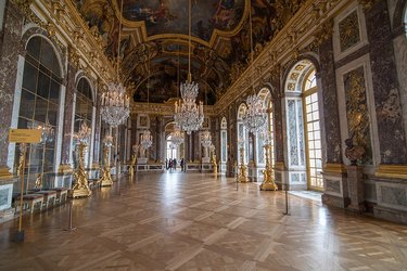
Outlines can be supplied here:
M307 60L296 63L285 81L287 160L290 185L294 189L323 189L317 90L313 63Z

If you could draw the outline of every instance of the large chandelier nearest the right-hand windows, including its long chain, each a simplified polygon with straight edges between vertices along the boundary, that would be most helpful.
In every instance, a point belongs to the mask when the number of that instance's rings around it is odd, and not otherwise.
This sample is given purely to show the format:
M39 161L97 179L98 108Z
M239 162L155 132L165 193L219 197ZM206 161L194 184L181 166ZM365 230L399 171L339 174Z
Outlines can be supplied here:
M250 1L249 1L250 2ZM253 95L249 95L246 100L247 108L243 114L243 124L247 128L247 130L252 133L255 133L262 129L264 124L266 122L266 115L264 114L266 111L262 101L255 94L254 91L254 69L253 69L253 26L252 26L252 8L249 9L249 21L250 21L250 49L251 49L251 72L252 72L252 89Z

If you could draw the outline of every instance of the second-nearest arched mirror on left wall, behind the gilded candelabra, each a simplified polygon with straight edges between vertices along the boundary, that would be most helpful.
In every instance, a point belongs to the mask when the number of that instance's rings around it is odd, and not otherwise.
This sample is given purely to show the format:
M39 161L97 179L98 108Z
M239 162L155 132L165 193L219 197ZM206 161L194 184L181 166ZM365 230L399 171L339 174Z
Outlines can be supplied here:
M75 121L74 121L74 132L78 132L80 125L86 122L89 128L92 128L92 117L93 117L93 100L92 90L90 88L89 81L81 77L76 86L76 103L75 103ZM92 144L90 140L90 144ZM76 142L74 142L76 144ZM74 149L75 150L75 149ZM86 166L89 165L89 153L92 147L89 145L86 149L85 163Z

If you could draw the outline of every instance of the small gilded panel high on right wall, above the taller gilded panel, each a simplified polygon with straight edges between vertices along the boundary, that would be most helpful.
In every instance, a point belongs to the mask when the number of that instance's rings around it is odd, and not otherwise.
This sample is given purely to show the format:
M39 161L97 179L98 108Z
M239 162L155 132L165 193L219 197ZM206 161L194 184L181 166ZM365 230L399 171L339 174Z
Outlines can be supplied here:
M359 43L359 22L356 10L339 23L339 34L341 52Z

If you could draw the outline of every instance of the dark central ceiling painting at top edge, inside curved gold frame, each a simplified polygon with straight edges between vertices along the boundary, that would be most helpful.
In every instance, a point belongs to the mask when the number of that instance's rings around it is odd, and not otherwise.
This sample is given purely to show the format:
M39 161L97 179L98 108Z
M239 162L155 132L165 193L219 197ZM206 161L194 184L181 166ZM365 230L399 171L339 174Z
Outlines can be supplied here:
M120 0L116 0L117 5ZM244 0L192 1L192 36L209 41L213 30L232 30L241 21ZM123 15L128 21L145 22L148 36L161 34L188 35L188 0L127 0Z

